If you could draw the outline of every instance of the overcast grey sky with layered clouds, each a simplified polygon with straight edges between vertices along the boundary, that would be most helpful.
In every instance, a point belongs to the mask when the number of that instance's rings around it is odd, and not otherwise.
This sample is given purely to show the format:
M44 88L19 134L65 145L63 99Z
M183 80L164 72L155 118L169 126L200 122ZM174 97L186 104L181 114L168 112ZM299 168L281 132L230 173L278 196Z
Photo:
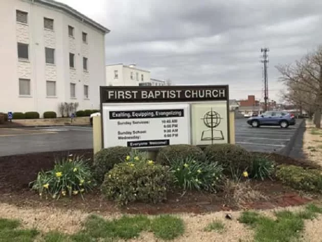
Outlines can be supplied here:
M59 0L111 30L106 64L135 63L176 85L228 84L231 99L262 99L261 47L269 47L269 97L282 85L275 65L322 43L322 1Z

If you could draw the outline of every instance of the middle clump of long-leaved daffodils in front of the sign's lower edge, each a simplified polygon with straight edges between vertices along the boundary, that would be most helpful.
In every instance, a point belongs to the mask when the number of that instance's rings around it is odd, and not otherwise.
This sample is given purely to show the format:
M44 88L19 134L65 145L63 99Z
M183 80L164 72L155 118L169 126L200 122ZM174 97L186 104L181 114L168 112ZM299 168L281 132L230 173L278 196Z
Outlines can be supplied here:
M222 181L222 166L217 162L204 162L193 157L170 159L174 184L183 190L217 191Z

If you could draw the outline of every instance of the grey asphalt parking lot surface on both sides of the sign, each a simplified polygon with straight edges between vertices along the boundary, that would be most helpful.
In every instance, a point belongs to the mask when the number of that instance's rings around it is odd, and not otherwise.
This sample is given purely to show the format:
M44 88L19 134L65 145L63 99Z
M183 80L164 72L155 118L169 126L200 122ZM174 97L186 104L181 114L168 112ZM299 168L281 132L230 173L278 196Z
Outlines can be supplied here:
M235 119L236 143L248 151L276 152L286 146L298 127L252 128L245 119ZM92 149L91 127L63 126L0 129L0 156L45 151Z

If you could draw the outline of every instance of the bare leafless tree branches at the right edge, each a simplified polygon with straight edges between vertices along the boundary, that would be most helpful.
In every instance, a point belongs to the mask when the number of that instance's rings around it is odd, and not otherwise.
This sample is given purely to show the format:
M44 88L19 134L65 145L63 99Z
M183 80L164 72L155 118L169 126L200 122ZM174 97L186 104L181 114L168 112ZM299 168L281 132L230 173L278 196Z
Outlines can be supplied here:
M293 104L314 110L314 124L320 128L322 110L322 46L294 64L276 67L286 85L286 98Z

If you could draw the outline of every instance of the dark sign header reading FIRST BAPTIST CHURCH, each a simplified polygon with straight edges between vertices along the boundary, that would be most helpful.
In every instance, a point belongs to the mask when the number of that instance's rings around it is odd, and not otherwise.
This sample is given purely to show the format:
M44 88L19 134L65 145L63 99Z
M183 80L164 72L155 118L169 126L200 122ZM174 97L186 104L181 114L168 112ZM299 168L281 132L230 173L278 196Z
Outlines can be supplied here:
M225 86L101 86L101 103L228 101Z

